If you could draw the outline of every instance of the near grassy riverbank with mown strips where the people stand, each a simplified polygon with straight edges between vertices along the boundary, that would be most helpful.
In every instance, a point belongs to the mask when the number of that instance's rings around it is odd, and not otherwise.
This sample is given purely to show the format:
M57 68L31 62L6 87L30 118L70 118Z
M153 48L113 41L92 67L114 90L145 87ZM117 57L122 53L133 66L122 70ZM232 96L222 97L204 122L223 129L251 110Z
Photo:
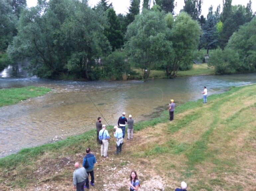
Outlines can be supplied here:
M173 191L186 181L188 190L251 190L256 187L256 84L178 106L174 121L167 111L135 124L134 139L115 156L112 127L109 158L100 156L96 131L53 144L23 149L0 159L0 190L72 190L75 162L86 147L97 158L90 190L128 189L130 171L138 173L140 191ZM57 188L58 187L58 188Z

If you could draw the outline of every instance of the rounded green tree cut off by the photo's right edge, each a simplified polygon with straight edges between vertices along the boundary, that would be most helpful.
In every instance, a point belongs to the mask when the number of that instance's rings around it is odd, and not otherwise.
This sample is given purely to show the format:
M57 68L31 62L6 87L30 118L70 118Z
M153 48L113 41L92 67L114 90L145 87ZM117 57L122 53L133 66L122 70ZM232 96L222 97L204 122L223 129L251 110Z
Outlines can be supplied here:
M235 50L240 62L234 68L237 72L255 72L256 70L256 18L241 26L230 37L227 48Z

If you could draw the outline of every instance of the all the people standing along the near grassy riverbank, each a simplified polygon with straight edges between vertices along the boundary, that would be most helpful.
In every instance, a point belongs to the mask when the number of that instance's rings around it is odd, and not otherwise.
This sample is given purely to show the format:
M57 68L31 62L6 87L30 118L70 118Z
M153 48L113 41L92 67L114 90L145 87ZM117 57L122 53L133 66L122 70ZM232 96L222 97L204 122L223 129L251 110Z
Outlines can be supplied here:
M206 89L206 87L205 87ZM207 95L207 90L206 90ZM175 103L174 100L171 100L169 103L169 114L170 120L174 118ZM122 116L118 119L118 126L114 126L115 132L113 132L114 137L116 138L116 152L114 154L119 154L122 152L123 139L125 137L125 127L128 124L127 140L133 139L133 124L134 120L132 116L129 115L129 119L125 118L125 112L122 113ZM96 130L97 130L97 142L101 144L101 156L108 158L108 140L110 135L106 129L105 124L101 124L101 118L99 117L96 121ZM86 148L86 156L83 158L82 167L79 166L79 163L75 163L75 171L73 172L73 185L76 191L84 191L84 189L89 189L89 184L94 186L94 164L96 163L96 157L91 154L90 148ZM91 176L91 181L89 182L89 174ZM130 191L138 191L140 183L136 171L132 171L130 174ZM181 182L181 189L176 188L175 191L186 191L187 184L186 182Z

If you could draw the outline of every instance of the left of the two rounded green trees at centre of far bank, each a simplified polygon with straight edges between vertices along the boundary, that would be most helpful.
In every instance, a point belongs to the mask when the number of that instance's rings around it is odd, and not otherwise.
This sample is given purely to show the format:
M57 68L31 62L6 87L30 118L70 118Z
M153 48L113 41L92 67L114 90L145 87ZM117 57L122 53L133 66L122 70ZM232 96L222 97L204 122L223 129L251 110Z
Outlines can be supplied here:
M165 15L159 11L143 9L137 15L126 32L126 49L131 55L135 67L144 71L143 79L147 79L152 69L166 61L172 51L171 42L167 40L170 33Z

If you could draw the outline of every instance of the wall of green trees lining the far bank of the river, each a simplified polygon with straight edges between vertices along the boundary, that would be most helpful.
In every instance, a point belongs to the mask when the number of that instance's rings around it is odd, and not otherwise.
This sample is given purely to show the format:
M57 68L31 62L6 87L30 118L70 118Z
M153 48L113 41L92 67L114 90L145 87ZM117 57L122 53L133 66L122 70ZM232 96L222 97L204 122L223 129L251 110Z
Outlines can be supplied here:
M174 0L153 0L153 7L143 0L142 12L140 0L130 0L129 12L117 15L107 0L93 8L87 0L39 0L32 8L26 0L0 0L0 51L12 61L29 57L29 72L42 78L118 80L132 68L142 69L143 79L152 70L173 78L202 50L215 50L208 65L218 74L255 72L251 0L246 7L223 0L222 12L211 6L206 18L202 0L184 2L175 15Z

